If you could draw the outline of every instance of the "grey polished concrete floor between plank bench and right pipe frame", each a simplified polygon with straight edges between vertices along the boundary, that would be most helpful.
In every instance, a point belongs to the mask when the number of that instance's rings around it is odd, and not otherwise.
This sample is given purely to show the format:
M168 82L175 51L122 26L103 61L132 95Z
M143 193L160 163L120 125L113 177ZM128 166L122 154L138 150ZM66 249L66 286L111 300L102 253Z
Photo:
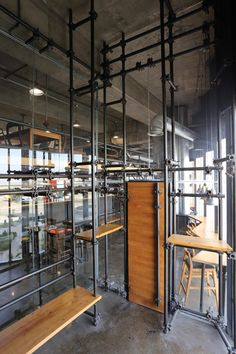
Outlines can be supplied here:
M51 339L37 354L226 354L208 323L179 314L172 332L162 332L162 316L102 292L97 327L83 315Z

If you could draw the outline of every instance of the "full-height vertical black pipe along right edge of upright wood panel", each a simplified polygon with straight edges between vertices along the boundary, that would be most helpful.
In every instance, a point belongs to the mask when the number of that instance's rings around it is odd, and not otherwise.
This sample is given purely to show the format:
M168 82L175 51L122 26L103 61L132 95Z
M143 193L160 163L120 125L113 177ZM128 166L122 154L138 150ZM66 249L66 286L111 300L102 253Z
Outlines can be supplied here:
M165 13L164 0L160 0L160 27L161 27L161 81L162 81L162 114L163 114L163 149L164 149L164 331L168 330L168 146L167 146L167 122L166 122L166 63L165 63Z

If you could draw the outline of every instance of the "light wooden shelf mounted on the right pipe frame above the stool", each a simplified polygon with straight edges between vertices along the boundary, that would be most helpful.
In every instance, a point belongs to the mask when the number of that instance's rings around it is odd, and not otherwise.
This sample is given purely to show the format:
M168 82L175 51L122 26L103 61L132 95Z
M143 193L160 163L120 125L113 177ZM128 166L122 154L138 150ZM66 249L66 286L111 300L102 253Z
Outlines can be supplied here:
M198 238L194 236L173 234L168 238L168 243L174 246L196 248L201 250L231 253L233 249L225 241Z

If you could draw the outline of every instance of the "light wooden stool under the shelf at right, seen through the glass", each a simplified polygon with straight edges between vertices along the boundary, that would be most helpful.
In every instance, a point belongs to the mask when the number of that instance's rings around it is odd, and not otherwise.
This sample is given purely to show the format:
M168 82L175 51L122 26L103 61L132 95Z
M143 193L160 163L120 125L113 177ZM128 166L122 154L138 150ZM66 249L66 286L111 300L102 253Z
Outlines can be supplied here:
M190 289L199 289L198 287L191 286L191 281L193 278L201 278L201 268L193 267L192 255L187 248L184 249L182 273L180 278L179 294L183 290L185 294L185 303L187 303ZM205 269L204 277L206 278L206 289L208 291L208 296L213 292L215 295L216 305L218 306L218 287L217 287L217 275L216 268L213 266L211 268ZM213 286L211 286L211 279ZM186 282L186 285L185 285Z

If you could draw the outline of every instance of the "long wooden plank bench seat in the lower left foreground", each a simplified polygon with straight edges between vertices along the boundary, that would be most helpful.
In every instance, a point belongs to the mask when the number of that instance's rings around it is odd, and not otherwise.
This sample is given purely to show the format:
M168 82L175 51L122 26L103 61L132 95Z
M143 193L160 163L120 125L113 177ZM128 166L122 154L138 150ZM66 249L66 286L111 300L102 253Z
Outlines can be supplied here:
M0 353L35 352L101 299L84 288L72 288L0 332Z

